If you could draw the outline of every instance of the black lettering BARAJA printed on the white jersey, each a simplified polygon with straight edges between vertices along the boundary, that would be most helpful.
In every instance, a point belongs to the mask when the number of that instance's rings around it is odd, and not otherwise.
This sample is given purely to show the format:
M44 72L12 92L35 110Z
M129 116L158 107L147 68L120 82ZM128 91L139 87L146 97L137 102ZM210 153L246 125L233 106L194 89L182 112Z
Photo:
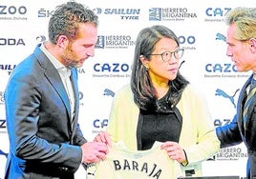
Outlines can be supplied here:
M123 162L119 160L113 160L115 170L137 170L140 172L144 172L147 174L147 176L150 176L152 178L159 178L161 169L158 169L157 164L148 164L146 162L140 164L136 161L128 161L126 159L123 160Z

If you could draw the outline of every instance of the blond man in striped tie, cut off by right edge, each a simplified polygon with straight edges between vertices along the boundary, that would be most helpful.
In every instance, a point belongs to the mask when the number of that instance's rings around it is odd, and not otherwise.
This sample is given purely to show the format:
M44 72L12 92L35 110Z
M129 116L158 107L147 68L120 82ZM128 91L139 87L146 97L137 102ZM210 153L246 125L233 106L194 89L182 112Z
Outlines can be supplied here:
M256 178L256 8L236 8L227 13L226 55L238 71L252 70L241 90L232 122L216 129L221 148L245 143L247 178ZM253 80L254 79L254 80Z

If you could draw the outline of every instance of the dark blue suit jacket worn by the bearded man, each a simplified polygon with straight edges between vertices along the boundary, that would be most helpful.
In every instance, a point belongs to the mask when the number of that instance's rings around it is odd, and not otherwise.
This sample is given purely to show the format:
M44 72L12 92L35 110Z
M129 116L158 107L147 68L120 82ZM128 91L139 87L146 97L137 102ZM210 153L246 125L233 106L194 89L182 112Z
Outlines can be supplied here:
M72 70L71 119L61 78L39 46L11 72L5 91L10 137L6 178L73 178L82 161L79 146L86 142L77 124L77 71Z

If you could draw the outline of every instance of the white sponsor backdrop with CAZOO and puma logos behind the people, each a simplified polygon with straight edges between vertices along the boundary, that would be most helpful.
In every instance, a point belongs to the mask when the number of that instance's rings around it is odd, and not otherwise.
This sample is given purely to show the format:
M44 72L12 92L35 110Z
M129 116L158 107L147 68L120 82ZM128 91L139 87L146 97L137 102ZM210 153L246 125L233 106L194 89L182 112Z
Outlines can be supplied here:
M36 44L47 40L51 3L32 0L1 0L0 3L0 178L3 178L9 140L3 93L11 71ZM224 15L238 7L253 7L253 0L77 0L95 10L99 17L96 55L79 71L80 126L92 140L106 129L115 92L130 80L131 63L139 30L164 25L179 36L185 49L181 73L199 86L208 100L213 124L232 120L242 85L250 74L238 73L225 56ZM243 144L221 149L203 162L203 175L245 176L246 149ZM80 168L76 178L85 178Z

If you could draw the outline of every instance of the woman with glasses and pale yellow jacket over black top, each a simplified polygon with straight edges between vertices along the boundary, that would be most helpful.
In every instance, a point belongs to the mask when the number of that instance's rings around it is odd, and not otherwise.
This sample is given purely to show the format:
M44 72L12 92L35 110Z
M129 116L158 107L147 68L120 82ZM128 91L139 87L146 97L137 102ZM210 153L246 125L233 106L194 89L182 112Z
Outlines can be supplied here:
M201 176L201 162L218 152L220 142L206 101L179 72L183 52L172 30L141 30L131 84L116 93L107 131L95 140L123 141L131 150L161 142L182 176Z

